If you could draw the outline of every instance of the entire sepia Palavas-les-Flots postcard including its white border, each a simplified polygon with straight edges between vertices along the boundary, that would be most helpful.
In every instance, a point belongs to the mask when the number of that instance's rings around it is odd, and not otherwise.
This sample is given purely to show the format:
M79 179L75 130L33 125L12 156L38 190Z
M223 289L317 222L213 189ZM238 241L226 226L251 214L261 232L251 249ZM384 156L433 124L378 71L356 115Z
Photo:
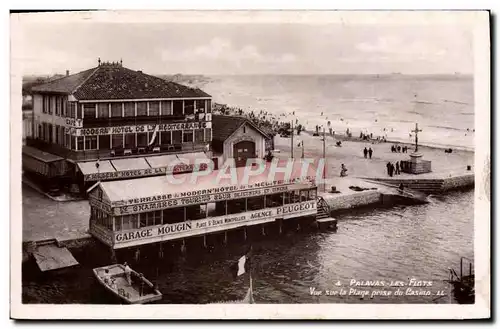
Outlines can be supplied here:
M12 317L489 317L489 19L11 13Z

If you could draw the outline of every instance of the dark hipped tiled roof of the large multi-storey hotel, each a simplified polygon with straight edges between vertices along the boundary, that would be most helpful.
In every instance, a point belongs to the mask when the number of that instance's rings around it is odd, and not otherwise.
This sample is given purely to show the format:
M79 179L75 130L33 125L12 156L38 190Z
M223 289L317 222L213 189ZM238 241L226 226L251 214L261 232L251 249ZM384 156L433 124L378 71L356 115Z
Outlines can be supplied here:
M39 92L73 94L78 100L206 98L200 89L133 71L121 65L100 65L33 88Z

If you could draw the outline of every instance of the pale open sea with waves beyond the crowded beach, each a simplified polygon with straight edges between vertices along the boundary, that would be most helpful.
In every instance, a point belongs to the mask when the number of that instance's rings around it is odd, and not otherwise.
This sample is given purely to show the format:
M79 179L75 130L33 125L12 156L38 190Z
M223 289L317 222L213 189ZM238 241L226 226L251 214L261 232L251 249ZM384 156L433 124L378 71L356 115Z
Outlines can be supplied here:
M422 145L474 149L474 81L469 75L245 75L186 82L212 95L214 102L263 111L311 131L318 125L413 142L411 131L418 123Z

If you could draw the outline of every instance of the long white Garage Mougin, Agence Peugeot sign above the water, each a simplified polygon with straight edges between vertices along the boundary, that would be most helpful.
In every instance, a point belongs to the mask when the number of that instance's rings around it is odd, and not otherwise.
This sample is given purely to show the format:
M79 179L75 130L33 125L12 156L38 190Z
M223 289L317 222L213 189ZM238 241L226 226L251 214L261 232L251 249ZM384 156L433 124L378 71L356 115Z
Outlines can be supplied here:
M277 218L287 219L315 214L316 200L311 200L277 208L114 232L113 241L115 248L123 248L272 222Z

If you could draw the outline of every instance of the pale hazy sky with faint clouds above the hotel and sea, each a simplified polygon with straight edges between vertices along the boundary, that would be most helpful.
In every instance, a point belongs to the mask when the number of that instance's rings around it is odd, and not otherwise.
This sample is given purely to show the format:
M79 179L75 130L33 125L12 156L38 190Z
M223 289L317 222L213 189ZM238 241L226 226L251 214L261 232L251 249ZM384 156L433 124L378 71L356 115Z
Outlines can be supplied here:
M150 74L470 74L461 24L24 22L23 74L103 61Z

